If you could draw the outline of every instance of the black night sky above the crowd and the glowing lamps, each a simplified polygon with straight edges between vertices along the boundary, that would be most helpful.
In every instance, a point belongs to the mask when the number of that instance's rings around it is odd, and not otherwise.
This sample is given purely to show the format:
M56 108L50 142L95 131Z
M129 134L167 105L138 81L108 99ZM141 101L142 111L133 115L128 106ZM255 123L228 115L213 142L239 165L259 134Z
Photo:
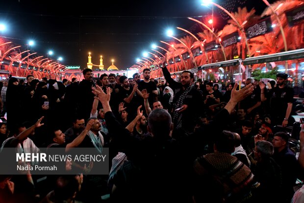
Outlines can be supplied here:
M197 33L201 28L186 17L206 20L211 15L211 9L201 6L201 0L80 1L0 0L0 23L7 24L7 31L0 35L23 45L24 49L28 39L33 39L36 45L32 52L47 57L47 52L52 50L52 58L62 56L64 65L86 68L91 51L93 64L98 65L102 55L105 68L113 58L119 69L127 69L137 57L142 57L143 51L151 51L152 43L165 46L159 40L170 40L165 34L167 28L179 26ZM217 1L221 2L224 3ZM255 7L256 14L266 8L262 0L226 0L225 3L235 5L235 10L238 5L249 10ZM226 24L217 8L214 20L215 29ZM175 31L177 37L184 34Z

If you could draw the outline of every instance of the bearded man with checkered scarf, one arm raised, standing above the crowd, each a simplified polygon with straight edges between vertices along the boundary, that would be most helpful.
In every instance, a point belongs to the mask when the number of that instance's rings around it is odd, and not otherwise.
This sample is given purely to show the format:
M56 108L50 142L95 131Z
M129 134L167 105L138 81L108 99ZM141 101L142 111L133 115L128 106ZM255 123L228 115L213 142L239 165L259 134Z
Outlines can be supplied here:
M180 76L180 82L171 78L171 75L165 66L166 59L163 59L162 71L170 87L175 91L173 98L173 123L175 129L183 128L186 131L193 132L195 121L203 114L202 94L194 88L192 82L194 75L190 71L183 71Z

